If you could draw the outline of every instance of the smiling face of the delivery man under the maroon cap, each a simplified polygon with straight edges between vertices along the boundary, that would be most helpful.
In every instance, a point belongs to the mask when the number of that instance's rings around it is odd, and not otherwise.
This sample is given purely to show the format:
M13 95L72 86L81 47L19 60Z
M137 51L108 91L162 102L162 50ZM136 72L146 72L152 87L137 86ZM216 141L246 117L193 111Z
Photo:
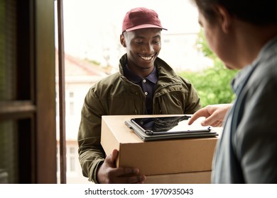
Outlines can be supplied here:
M129 68L139 76L148 76L161 50L161 29L144 28L124 32L120 41L126 47Z

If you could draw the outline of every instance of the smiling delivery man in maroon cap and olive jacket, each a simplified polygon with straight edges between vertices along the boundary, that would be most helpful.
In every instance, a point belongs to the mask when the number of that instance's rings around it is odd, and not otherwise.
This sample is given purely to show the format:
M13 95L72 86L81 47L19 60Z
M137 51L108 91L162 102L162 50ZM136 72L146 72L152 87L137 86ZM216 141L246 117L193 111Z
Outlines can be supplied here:
M89 89L78 133L83 175L95 183L142 183L137 168L116 168L118 151L106 156L100 144L102 115L192 114L200 98L162 59L161 21L148 8L131 9L124 18L120 42L126 54L119 72ZM123 121L122 121L123 122Z

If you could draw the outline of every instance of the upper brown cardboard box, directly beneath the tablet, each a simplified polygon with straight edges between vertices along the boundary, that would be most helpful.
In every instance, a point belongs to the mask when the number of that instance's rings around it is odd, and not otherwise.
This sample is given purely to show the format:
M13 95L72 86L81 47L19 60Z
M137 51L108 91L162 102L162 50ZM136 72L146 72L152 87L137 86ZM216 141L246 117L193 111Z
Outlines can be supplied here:
M217 137L143 142L124 122L133 117L147 116L102 116L101 144L107 155L114 148L119 150L118 167L134 167L144 175L164 176L212 170Z

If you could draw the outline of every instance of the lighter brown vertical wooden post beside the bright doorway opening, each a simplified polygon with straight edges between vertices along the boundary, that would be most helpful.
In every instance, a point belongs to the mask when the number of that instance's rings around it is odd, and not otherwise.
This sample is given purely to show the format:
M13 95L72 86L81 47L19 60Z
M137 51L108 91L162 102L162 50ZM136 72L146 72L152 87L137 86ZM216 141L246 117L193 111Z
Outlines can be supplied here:
M36 0L36 182L57 182L54 1Z

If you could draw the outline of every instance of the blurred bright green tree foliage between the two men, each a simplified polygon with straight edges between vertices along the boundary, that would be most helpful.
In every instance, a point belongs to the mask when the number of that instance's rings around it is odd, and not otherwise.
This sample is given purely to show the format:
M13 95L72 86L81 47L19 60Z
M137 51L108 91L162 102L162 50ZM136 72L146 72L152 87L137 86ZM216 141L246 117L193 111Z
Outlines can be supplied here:
M202 107L211 104L231 103L235 95L231 81L236 70L227 69L223 62L210 50L201 30L197 39L197 49L212 59L214 65L200 72L183 71L179 75L188 79L200 95Z

